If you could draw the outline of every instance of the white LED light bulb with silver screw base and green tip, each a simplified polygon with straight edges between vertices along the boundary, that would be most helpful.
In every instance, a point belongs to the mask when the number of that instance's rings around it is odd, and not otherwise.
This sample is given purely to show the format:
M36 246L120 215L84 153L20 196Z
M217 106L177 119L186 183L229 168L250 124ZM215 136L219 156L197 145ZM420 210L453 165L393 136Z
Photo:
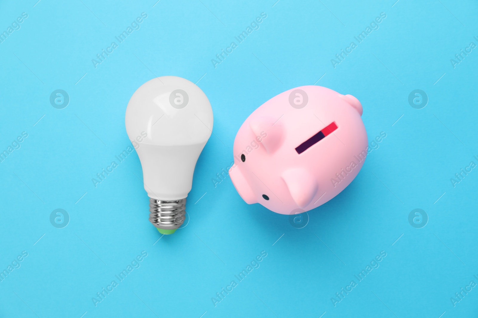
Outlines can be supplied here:
M211 104L193 82L162 76L134 92L125 123L141 161L149 219L172 234L185 220L196 161L212 133Z

